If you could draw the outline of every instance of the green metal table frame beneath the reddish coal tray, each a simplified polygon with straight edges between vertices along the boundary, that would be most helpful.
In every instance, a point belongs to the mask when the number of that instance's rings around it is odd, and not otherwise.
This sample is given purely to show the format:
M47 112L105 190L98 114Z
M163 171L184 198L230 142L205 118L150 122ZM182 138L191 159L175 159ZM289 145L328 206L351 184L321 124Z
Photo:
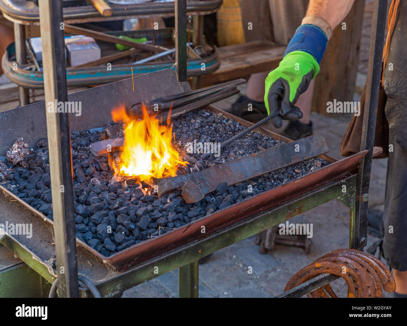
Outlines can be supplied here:
M295 215L302 214L335 198L350 209L349 243L350 248L352 248L354 238L356 178L356 175L352 175L340 181L330 182L324 187L305 193L266 213L248 217L233 226L221 229L197 241L166 252L161 256L133 267L127 272L109 273L109 277L94 284L102 297L118 297L121 296L126 289L179 268L179 297L197 298L198 259L247 237L251 237L267 228L280 224ZM343 185L346 186L346 192L342 190L344 189ZM55 274L50 270L49 265L36 258L33 252L25 246L22 246L18 241L12 237L5 236L0 240L0 243L11 250L11 252L14 252L16 256L22 259L31 269L39 273L48 282L52 283L55 280ZM89 268L92 267L89 265ZM83 271L79 268L79 274L82 273ZM16 278L16 280L17 279L21 278ZM16 285L15 281L13 281L13 283ZM79 293L81 297L92 297L88 289L79 289Z

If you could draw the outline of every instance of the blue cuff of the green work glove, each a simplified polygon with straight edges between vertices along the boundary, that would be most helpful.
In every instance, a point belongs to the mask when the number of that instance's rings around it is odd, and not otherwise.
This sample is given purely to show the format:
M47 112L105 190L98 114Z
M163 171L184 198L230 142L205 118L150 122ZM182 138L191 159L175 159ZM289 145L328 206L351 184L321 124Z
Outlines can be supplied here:
M321 28L312 24L304 24L295 31L284 52L284 57L293 51L304 51L311 54L319 65L325 52L326 43L328 43L328 37Z

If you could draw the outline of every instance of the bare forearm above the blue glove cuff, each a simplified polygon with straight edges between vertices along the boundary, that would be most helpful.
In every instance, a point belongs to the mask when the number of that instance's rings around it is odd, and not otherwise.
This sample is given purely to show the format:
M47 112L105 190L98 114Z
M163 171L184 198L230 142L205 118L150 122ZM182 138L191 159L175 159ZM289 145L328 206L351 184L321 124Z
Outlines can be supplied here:
M306 16L324 18L332 30L348 15L355 0L310 0Z

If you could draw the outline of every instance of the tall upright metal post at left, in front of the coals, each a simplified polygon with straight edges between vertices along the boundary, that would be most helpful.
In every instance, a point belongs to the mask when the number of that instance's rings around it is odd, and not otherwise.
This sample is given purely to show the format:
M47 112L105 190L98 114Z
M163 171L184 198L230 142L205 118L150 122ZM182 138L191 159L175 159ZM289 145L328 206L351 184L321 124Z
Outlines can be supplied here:
M45 103L67 102L62 1L39 1ZM44 108L45 109L45 108ZM77 298L75 214L69 113L46 113L59 297Z

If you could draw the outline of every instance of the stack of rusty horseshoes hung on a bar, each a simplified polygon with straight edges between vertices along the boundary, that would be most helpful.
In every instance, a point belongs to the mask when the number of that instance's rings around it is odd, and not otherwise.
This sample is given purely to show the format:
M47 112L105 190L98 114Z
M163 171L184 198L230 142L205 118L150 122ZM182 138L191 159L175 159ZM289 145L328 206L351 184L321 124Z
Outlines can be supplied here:
M344 278L348 285L348 298L381 298L382 287L387 292L396 290L392 273L379 259L355 249L338 249L295 273L284 291L323 273ZM327 284L308 293L308 298L337 298L337 296Z

